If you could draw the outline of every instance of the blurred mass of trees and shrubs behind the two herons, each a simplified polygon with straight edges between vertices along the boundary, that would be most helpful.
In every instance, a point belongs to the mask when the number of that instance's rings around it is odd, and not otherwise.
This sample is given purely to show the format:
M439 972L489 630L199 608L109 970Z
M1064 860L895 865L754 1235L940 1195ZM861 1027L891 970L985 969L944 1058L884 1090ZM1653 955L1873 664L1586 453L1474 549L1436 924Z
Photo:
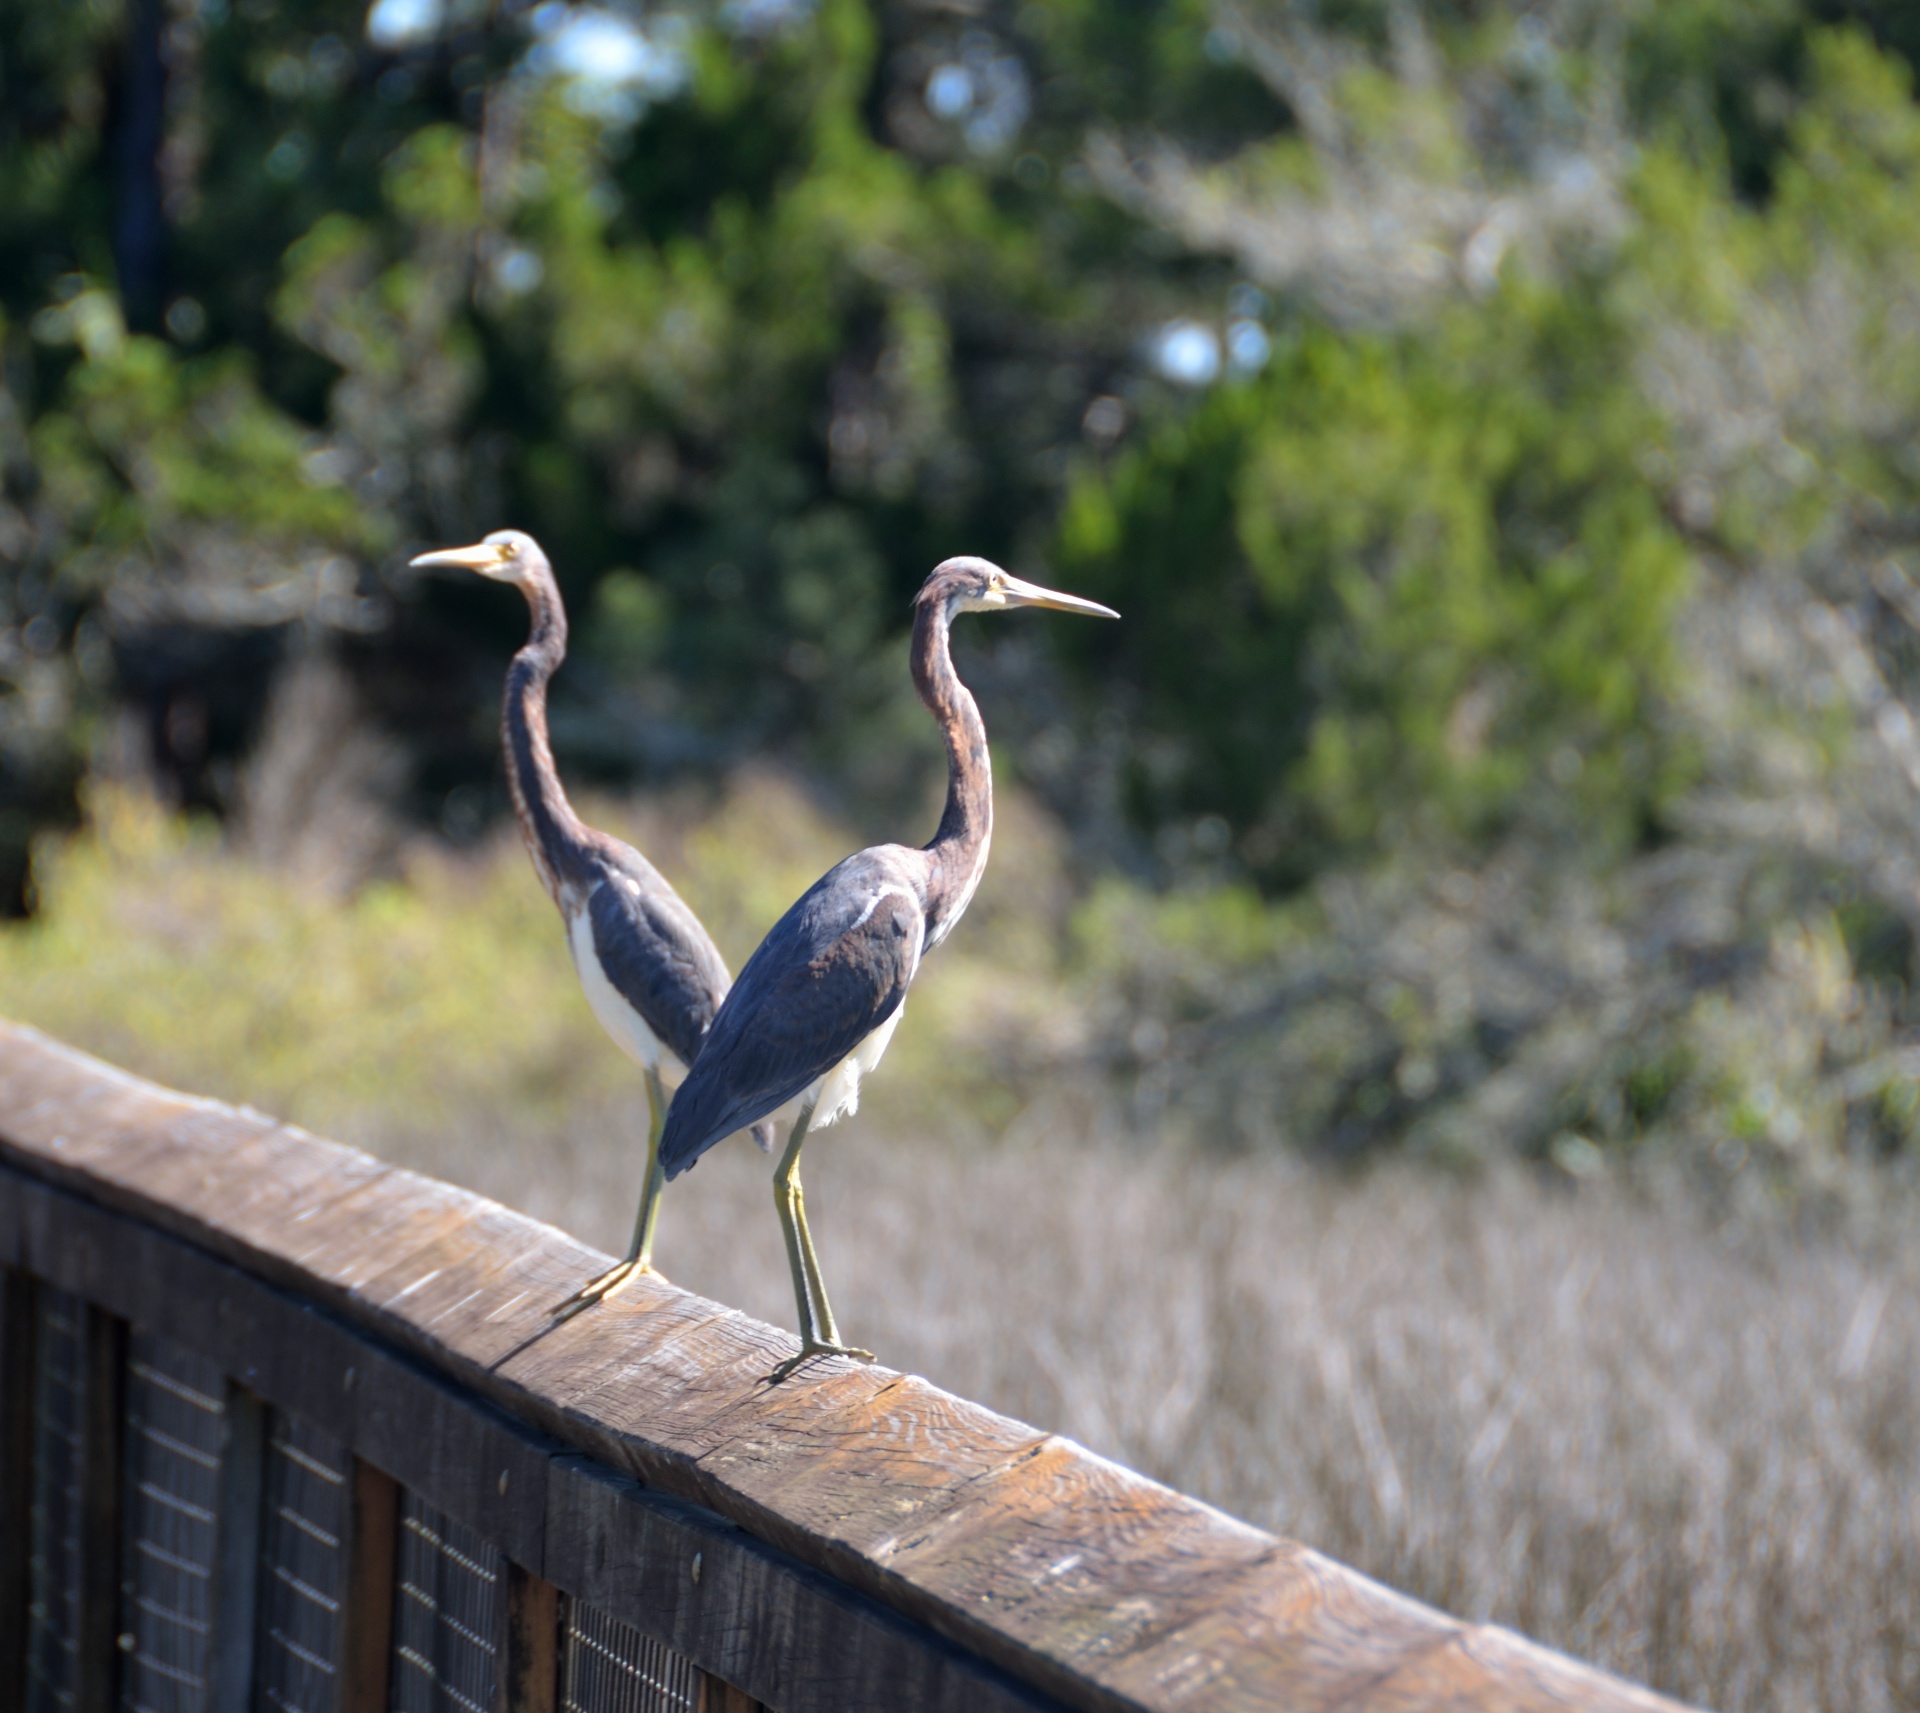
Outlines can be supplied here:
M1127 615L968 670L1158 889L1083 918L1142 1087L1905 1146L1916 50L1880 0L4 10L0 903L129 732L244 803L317 651L474 832L524 618L399 567L507 522L570 772L897 824L906 601L985 551Z

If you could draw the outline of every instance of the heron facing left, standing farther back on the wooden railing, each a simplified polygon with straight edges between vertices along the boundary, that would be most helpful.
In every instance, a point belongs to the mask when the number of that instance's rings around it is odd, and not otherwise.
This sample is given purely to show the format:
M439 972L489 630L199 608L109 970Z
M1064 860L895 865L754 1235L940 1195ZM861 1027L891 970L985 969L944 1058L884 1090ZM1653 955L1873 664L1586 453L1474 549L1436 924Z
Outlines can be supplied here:
M699 1056L728 993L728 968L666 876L632 845L589 828L566 801L547 743L547 684L566 659L566 607L540 543L520 530L495 530L472 547L420 553L413 565L476 570L526 595L532 632L507 668L501 707L513 808L534 872L566 924L566 947L593 1016L647 1075L647 1177L634 1237L618 1266L561 1306L574 1314L653 1269L668 1106L662 1077L684 1074ZM762 1123L760 1131L762 1146L770 1146L772 1127Z

